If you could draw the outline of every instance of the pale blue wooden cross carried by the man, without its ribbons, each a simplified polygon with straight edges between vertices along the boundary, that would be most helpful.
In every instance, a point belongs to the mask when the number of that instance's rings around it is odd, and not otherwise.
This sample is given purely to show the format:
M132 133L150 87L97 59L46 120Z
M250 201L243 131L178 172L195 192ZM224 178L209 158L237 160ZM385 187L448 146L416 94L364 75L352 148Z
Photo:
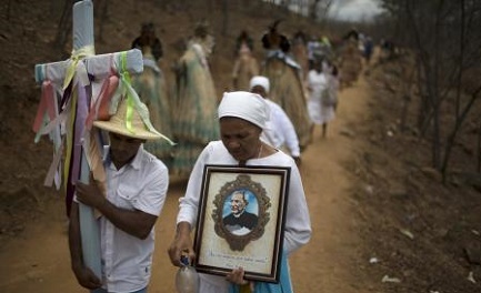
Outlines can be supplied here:
M99 80L108 78L111 74L112 69L114 71L119 69L121 57L126 58L124 60L127 62L124 64L127 71L131 73L142 72L142 53L138 49L129 50L126 52L94 55L93 3L91 0L83 0L74 3L72 16L72 58L60 62L37 64L36 81L38 83L42 83L43 81L48 80L49 82L54 84L54 88L62 89L59 90L62 95L64 92L63 90L67 85L63 83L69 75L70 78L72 78L72 69L77 72L84 72L93 75L96 81L98 82ZM77 79L82 84L91 85L91 92L87 92L87 94L90 95L89 98L97 97L98 91L100 90L100 87L98 87L99 84L90 81L87 74L83 74L83 77L79 75L81 74L73 73L73 79ZM53 94L53 104L56 104L57 107L59 104L59 101L57 100L57 94ZM79 99L81 99L81 97L79 97ZM90 104L88 104L88 107L90 108ZM77 119L79 119L79 117L77 117ZM84 119L84 117L81 119ZM60 135L59 128L57 129L57 134ZM89 183L90 169L83 150L81 150L81 155L79 158L81 158L81 162L79 162L79 164L81 165L80 180L84 183ZM68 179L64 178L63 180ZM83 261L84 264L90 267L97 276L101 277L99 226L93 215L93 209L81 203L79 204L79 209Z

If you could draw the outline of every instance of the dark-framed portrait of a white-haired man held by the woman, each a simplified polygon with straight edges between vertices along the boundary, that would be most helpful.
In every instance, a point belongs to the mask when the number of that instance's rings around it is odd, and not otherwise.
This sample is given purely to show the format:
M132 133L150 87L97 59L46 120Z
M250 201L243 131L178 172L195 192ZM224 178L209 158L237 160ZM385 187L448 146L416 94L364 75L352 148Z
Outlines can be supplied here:
M290 168L206 165L196 226L194 266L279 282Z

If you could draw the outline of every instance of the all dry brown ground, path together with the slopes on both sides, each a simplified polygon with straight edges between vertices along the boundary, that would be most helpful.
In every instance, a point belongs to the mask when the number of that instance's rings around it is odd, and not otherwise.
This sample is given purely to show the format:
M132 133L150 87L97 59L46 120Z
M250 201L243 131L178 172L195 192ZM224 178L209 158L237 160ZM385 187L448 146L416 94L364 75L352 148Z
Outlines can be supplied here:
M34 144L30 130L40 97L33 65L66 58L51 47L61 9L62 1L0 4L0 292L84 292L70 271L62 196L42 186L51 146L46 140ZM233 36L245 26L259 39L263 29L258 28L272 21L261 9L245 20L245 9L231 13L234 24L227 36L213 26L219 93L230 87ZM219 11L210 11L219 24ZM147 0L110 6L98 53L128 49L148 16L161 28L162 65L170 78L177 41L191 33L202 13L208 14L206 8L162 10ZM383 85L391 79L389 67L395 63L342 91L328 139L317 130L303 153L313 236L291 257L297 292L481 292L480 192L462 176L440 184L428 168L429 144L399 131L399 97ZM474 143L463 145L467 151L457 152L455 161L469 169L472 162L464 158L473 158ZM182 182L172 182L157 224L151 292L173 292L176 267L166 249L183 189Z

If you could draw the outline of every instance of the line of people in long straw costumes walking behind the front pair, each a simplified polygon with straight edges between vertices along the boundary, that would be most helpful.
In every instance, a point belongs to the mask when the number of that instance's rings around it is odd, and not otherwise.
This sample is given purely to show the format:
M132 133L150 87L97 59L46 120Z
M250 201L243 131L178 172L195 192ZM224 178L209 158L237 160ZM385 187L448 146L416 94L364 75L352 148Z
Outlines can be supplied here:
M274 21L258 39L247 30L239 32L233 48L232 83L227 88L250 91L252 78L264 78L269 84L268 89L263 88L264 94L269 94L269 102L279 105L285 114L294 131L295 148L303 151L314 139L315 125L321 125L321 138L327 138L328 122L335 118L338 91L355 82L361 57L370 59L372 40L369 39L367 52L360 52L355 30L349 31L341 46L333 48L325 34L298 30L288 38L280 29L282 26L287 24ZM154 127L176 142L176 145L164 141L148 142L146 149L161 159L176 176L189 176L202 148L219 138L212 120L219 103L210 69L211 59L216 58L213 47L209 26L199 22L174 64L173 84L167 84L166 73L158 62L162 44L153 24L143 23L141 36L132 42L132 48L142 50L144 59L143 73L133 79L136 90L149 107ZM254 48L263 49L263 58L259 58ZM275 123L277 128L283 128ZM292 139L285 142L290 141ZM300 151L292 155L298 160Z

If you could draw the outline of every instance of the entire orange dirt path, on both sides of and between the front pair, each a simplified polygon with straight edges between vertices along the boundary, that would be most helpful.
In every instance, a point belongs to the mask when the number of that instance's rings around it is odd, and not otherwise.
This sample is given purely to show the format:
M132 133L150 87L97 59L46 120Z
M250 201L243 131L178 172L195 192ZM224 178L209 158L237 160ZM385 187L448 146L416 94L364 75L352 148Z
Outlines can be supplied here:
M359 243L355 222L350 216L351 181L342 165L350 159L355 141L362 139L349 133L352 133L350 125L362 121L368 97L369 89L362 79L354 88L342 91L338 117L329 125L328 138L321 139L315 129L313 143L303 153L301 173L313 236L310 244L290 260L295 292L362 292L362 281L357 280L355 274ZM157 223L151 293L176 292L176 267L170 264L166 251L172 240L182 190L182 184L171 184ZM86 292L70 270L63 201L52 201L40 218L26 226L20 236L1 247L0 292Z

